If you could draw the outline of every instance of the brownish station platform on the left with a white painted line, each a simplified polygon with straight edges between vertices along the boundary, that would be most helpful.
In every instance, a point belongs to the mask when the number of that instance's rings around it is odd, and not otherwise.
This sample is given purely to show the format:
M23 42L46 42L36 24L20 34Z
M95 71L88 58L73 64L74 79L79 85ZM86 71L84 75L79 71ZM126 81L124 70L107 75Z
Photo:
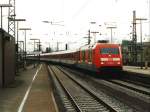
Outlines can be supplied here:
M29 66L0 89L0 112L57 112L46 65Z

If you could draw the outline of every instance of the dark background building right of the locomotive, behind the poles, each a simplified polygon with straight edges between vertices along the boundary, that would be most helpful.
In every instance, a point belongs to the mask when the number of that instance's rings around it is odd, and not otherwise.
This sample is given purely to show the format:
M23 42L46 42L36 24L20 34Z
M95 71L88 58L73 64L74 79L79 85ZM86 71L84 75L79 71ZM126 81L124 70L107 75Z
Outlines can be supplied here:
M122 55L124 65L138 65L144 66L145 61L148 61L150 65L150 42L137 43L137 63L133 63L133 50L132 41L123 40L122 41ZM142 59L141 59L142 57Z

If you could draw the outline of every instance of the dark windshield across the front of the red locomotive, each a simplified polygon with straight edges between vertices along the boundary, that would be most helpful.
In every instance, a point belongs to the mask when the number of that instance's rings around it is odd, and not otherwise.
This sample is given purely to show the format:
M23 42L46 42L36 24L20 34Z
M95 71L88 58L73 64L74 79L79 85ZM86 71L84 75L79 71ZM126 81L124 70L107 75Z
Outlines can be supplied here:
M101 48L100 49L101 54L119 54L118 48Z

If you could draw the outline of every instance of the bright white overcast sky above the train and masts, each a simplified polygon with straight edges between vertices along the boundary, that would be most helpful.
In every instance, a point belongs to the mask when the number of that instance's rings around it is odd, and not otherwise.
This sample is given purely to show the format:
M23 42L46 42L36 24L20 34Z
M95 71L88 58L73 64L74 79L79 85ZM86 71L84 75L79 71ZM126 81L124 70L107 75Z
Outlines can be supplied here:
M8 3L9 0L0 0ZM16 18L26 18L27 22L20 23L20 27L31 27L32 38L41 38L43 43L50 41L77 41L87 36L87 31L97 30L102 33L97 39L110 39L107 25L115 23L114 41L129 39L132 23L132 11L136 10L137 17L149 19L150 0L16 0ZM4 15L7 15L4 10ZM7 21L4 18L4 28ZM42 21L64 21L64 26L52 26ZM96 25L89 22L95 21ZM145 21L145 22L148 22ZM107 25L106 25L107 24ZM98 27L101 25L101 27ZM148 23L143 23L143 36L149 34ZM139 25L137 25L139 31ZM54 35L55 32L55 35ZM66 35L69 32L69 35ZM67 33L68 34L68 33ZM74 35L76 34L76 35ZM20 32L20 39L23 38ZM138 34L139 35L139 34ZM53 38L53 39L52 39ZM44 42L45 41L45 42ZM84 42L84 41L83 41ZM83 43L78 41L78 43Z

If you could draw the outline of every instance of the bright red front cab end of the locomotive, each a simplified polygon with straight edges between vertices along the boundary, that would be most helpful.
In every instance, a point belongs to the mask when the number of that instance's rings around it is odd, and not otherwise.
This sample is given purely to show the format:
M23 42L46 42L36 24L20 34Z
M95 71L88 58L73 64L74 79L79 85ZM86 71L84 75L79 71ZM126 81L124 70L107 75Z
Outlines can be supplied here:
M100 70L122 70L121 48L118 44L101 44L95 50L96 66Z

